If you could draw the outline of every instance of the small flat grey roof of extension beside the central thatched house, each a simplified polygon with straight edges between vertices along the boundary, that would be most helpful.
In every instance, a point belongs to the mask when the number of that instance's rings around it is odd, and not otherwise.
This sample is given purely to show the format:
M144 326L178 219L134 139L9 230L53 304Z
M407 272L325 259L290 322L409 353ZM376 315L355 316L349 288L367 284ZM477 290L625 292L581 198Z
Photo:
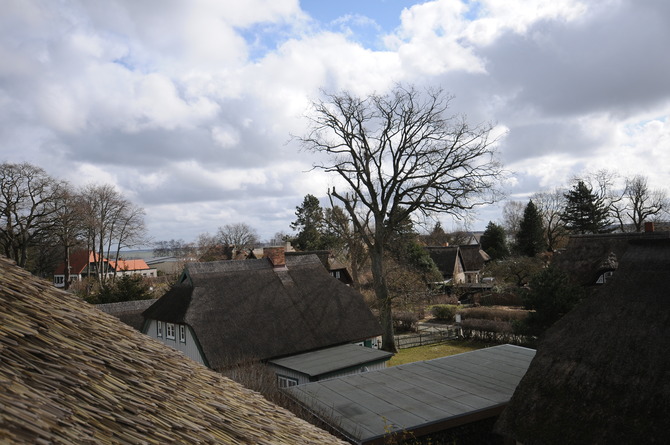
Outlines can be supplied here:
M370 362L388 360L391 356L391 352L348 344L270 360L270 363L315 377Z

